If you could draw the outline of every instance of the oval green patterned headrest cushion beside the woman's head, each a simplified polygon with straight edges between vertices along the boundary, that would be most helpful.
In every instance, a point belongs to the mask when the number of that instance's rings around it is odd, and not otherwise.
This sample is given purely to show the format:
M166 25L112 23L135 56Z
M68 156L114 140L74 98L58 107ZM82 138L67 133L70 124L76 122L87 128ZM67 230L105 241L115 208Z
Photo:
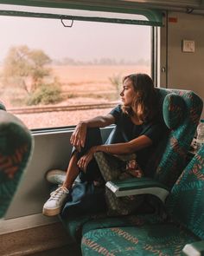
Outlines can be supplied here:
M181 95L170 93L163 101L163 119L170 129L177 128L186 115L186 104Z

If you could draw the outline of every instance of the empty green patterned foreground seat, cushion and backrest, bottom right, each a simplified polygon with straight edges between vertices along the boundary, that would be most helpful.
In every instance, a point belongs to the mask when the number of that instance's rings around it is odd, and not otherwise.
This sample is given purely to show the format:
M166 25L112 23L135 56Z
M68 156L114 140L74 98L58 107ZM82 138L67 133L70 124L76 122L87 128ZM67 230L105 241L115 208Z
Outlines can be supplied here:
M204 146L171 190L166 203L171 221L156 223L146 216L149 221L130 226L92 223L84 230L82 255L182 255L186 244L204 240L203 194Z

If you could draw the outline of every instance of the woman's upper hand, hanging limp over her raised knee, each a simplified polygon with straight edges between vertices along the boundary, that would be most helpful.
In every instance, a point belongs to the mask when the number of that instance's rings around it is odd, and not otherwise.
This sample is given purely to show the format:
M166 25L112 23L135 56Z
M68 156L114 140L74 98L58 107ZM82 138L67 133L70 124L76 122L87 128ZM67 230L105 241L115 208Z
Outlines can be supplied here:
M86 131L87 124L86 122L80 122L73 131L71 135L70 142L77 151L80 152L80 149L85 146L86 141Z

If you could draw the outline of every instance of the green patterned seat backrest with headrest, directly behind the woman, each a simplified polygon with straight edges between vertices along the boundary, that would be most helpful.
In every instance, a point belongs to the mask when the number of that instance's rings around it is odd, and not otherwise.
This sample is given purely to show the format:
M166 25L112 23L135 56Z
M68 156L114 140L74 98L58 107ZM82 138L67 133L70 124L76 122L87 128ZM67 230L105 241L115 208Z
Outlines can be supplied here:
M190 90L157 89L160 108L158 115L169 128L154 154L147 162L147 173L169 188L186 166L186 157L202 111L202 100Z

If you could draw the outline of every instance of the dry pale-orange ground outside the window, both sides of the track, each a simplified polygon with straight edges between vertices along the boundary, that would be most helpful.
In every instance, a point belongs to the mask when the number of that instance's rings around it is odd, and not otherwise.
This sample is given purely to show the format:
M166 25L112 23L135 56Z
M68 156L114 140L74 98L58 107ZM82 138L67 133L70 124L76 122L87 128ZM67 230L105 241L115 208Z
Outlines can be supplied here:
M55 105L74 105L86 103L112 102L118 98L117 86L111 82L122 82L124 75L131 73L147 73L150 69L143 66L51 66L54 76L61 82L64 100ZM0 69L1 71L1 69ZM10 108L19 107L14 104L16 97L23 97L20 89L2 89L1 101ZM23 107L23 106L20 106ZM94 115L103 115L110 109L79 110L73 112L53 112L29 115L17 115L29 128L45 128L74 125L78 121Z

